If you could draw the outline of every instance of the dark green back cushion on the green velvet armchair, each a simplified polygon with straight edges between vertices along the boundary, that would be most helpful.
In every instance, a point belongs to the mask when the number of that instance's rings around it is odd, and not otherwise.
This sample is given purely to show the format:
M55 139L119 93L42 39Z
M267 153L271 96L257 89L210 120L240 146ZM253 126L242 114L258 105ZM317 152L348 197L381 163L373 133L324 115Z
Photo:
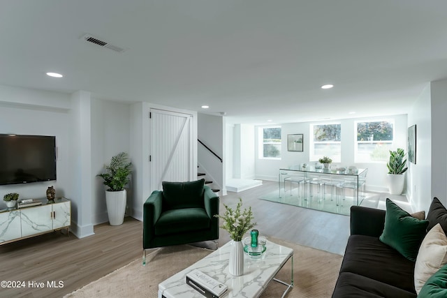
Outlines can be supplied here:
M163 181L163 209L203 208L205 179L189 182Z

